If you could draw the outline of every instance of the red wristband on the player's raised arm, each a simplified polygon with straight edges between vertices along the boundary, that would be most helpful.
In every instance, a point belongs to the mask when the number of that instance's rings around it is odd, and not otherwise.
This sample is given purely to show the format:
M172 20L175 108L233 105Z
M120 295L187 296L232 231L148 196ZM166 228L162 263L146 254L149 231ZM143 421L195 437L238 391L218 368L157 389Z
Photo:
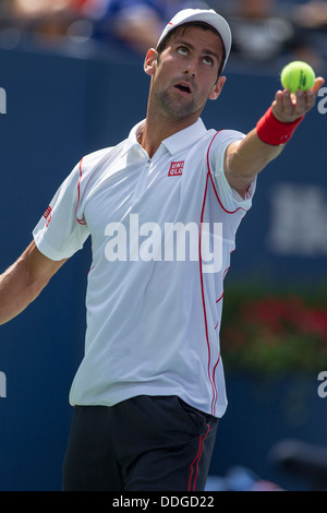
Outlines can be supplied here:
M264 143L270 144L271 146L279 146L279 144L284 144L291 139L303 118L304 116L292 123L282 123L275 118L272 108L270 107L265 116L257 122L257 135Z

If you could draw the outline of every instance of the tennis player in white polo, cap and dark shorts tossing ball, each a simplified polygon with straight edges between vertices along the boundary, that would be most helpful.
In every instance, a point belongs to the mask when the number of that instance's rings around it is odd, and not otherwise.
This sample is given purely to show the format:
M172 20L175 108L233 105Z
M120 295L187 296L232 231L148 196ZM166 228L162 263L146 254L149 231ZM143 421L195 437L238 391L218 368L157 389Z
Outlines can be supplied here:
M222 91L231 41L213 10L171 20L145 57L146 118L75 166L1 275L4 323L92 237L63 490L205 487L227 407L219 329L235 232L258 172L324 84L294 97L278 91L247 134L207 130L201 114Z

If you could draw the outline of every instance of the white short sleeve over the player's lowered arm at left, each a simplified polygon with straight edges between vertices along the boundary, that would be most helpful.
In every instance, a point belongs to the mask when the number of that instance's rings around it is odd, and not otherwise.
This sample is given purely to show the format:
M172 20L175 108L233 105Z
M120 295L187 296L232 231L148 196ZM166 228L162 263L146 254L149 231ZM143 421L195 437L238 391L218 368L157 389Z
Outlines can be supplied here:
M46 212L33 230L39 251L51 260L72 256L83 248L89 231L78 218L80 164L60 186Z

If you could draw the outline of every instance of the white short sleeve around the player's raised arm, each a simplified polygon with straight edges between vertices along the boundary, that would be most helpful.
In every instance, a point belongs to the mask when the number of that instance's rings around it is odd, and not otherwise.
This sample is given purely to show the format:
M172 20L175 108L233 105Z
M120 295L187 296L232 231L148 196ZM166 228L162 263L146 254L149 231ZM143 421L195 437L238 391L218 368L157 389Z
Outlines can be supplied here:
M256 188L256 179L254 179L250 184L246 198L243 199L235 189L229 184L223 169L225 154L228 146L235 141L241 142L244 138L245 134L242 132L238 132L235 130L222 130L217 133L209 152L209 165L215 180L215 186L217 188L219 199L227 211L233 211L239 207L247 211L252 206L252 199Z

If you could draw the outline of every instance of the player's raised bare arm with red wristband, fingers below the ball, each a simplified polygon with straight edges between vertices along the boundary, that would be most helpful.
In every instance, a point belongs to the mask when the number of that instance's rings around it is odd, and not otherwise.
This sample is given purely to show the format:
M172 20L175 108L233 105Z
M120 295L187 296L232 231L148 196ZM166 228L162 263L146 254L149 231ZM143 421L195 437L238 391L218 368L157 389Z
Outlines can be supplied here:
M277 142L278 130L284 133L295 129L302 117L315 105L318 90L324 85L322 77L315 80L312 91L298 92L291 95L288 91L278 91L271 108L258 126L241 142L232 143L225 157L225 172L230 186L243 198L250 183L269 162L274 160L283 150L284 144ZM271 130L271 142L269 140ZM266 136L263 138L262 133ZM269 143L264 142L268 140Z

